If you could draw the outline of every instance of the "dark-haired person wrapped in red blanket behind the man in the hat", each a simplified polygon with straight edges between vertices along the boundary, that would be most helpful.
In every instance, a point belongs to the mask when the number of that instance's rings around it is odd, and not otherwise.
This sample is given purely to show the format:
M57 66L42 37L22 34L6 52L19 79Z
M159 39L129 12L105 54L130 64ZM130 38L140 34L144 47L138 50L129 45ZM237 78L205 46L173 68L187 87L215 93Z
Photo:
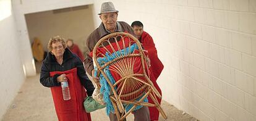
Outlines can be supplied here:
M157 51L155 48L155 43L153 42L153 38L146 32L143 31L143 24L140 21L135 21L132 23L132 28L134 28L134 33L139 39L140 43L142 43L143 49L148 51L148 57L150 59L150 80L153 82L154 86L161 94L161 89L156 83L157 78L160 76L163 70L163 64L157 56ZM161 99L157 98L158 102L161 104ZM152 99L149 97L148 102L153 102ZM158 120L159 111L156 107L148 107L150 111L150 120Z

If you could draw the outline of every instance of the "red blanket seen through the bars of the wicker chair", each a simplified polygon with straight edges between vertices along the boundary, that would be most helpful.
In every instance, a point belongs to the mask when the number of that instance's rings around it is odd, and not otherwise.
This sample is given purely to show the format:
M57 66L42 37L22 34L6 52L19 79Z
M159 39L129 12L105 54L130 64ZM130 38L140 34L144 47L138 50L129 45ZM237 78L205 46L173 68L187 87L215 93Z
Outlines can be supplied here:
M134 46L135 47L135 41L134 40L129 40L129 38L124 38L124 43L123 43L122 40L119 40L119 41L117 41L117 43L115 43L115 42L111 43L111 46L106 45L105 48L97 48L97 51L96 51L97 57L103 57L102 54L106 54L106 53L109 53L109 52L112 54L114 51L116 51L116 52L119 51L122 54L124 54L124 53L127 54L128 51L129 51L129 49L127 49L127 48L129 48L129 46ZM127 51L121 52L121 50L125 49L124 47L127 49ZM131 49L131 50L133 50L133 49ZM132 54L139 54L139 50L135 49L131 53ZM90 52L90 56L92 56L92 52ZM123 60L124 60L123 62L127 62L127 63L134 60L134 65L133 65L133 68L132 68L133 72L134 73L143 73L142 62L140 60L140 57L126 57ZM130 62L130 63L132 63L132 62ZM146 64L145 60L144 60L144 65L145 65L146 73L148 73L147 64ZM121 75L119 75L120 73L117 73L116 71L113 71L113 69L114 70L119 70L119 69L117 69L117 67L119 67L119 66L112 65L112 64L109 65L110 73L113 76L114 80L116 80L116 81L122 78ZM140 78L140 80L142 80L142 81L146 81L146 78L144 78L144 77L137 77L137 78ZM119 83L118 86L121 87L122 83ZM125 85L124 90L122 91L122 94L128 94L128 93L134 92L135 90L139 89L141 86L143 86L143 83L136 83L136 85L132 84L132 83L127 83L127 85ZM117 88L117 94L119 94L121 92L121 90L119 90L119 89L120 88ZM145 89L133 94L132 96L127 96L127 97L124 97L124 98L121 98L121 99L129 101L130 99L134 99L135 97L139 96L144 91L145 91Z

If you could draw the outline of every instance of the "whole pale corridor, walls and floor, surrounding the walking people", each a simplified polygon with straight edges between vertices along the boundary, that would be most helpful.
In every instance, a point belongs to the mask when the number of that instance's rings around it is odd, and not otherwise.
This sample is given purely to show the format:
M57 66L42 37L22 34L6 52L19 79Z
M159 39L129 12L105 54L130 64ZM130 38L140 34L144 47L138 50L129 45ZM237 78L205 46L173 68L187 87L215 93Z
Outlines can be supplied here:
M256 120L256 0L109 1L118 22L139 20L153 39L167 120ZM48 52L49 38L61 35L85 53L103 2L0 0L0 120L58 120L32 44L38 38ZM108 117L101 109L92 119Z

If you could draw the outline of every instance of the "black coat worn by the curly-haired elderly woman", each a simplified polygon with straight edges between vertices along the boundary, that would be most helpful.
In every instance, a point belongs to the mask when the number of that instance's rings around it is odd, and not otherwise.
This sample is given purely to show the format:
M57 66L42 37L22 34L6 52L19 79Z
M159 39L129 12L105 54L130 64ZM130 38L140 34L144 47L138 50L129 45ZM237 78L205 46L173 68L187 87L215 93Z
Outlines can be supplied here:
M57 81L57 77L59 77L59 75L56 74L53 77L50 77L49 72L63 72L74 69L75 67L77 67L77 75L81 84L87 90L87 95L92 96L95 88L92 81L89 80L85 73L82 61L67 48L64 51L63 62L61 65L57 62L56 57L48 52L48 55L43 61L43 65L41 67L40 83L46 87L60 86L61 84Z

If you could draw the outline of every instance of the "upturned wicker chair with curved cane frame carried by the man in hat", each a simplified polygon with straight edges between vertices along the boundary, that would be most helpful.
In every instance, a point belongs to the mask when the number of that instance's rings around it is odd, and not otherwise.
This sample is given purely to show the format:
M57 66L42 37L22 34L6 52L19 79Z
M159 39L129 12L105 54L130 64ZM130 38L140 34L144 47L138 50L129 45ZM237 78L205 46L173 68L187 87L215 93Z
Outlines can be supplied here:
M133 48L134 46L136 48ZM109 57L113 59L111 60ZM99 63L97 60L99 58L108 61ZM101 38L93 49L96 76L103 75L108 82L111 88L109 98L118 120L124 120L136 106L156 107L164 119L167 119L156 100L156 96L161 98L161 95L150 81L145 59L139 40L129 33L117 32L107 35ZM111 74L118 79L111 83L106 70L111 71ZM143 102L148 96L154 101L153 104ZM127 110L129 104L133 106Z

